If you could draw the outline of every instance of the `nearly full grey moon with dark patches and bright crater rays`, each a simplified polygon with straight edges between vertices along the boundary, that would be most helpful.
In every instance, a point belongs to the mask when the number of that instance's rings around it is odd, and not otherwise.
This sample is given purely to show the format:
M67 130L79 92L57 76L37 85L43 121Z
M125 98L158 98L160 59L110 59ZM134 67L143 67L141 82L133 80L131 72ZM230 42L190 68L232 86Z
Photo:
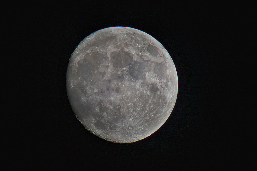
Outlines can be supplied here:
M66 88L87 130L107 141L131 143L166 122L177 99L178 76L155 38L130 27L109 27L76 47Z

